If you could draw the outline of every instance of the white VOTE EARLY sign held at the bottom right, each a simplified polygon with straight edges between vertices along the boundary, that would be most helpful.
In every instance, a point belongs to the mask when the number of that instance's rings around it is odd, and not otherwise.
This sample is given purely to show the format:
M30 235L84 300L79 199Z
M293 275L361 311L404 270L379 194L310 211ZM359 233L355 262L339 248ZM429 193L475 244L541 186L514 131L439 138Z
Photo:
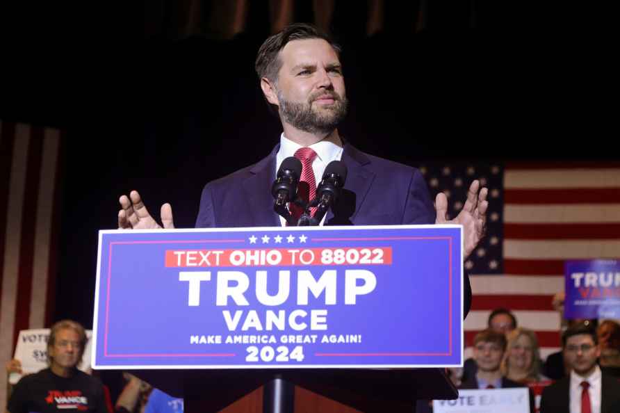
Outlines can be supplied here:
M529 413L527 387L459 390L455 400L433 400L434 413Z

